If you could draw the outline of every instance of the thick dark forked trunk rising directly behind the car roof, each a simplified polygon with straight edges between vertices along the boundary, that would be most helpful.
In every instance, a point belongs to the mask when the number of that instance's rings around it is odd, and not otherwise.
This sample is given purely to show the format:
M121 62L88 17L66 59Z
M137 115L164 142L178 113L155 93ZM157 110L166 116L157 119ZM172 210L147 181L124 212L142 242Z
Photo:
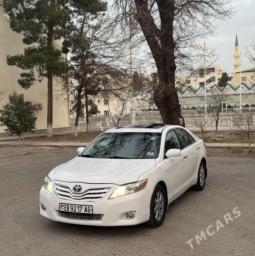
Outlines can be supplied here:
M175 88L175 42L174 42L174 1L157 1L160 30L155 25L148 10L147 1L135 0L135 19L142 28L158 69L158 83L154 91L154 102L159 109L164 124L185 127L181 115L181 105Z

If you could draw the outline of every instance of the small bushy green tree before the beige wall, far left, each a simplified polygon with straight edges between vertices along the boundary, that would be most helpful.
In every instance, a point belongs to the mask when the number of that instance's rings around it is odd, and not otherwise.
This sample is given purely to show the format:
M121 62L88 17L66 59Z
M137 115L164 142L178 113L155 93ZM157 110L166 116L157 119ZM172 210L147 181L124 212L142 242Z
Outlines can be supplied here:
M9 95L9 103L0 110L0 125L6 126L6 132L20 136L35 129L36 115L34 106L30 101L24 100L23 94L13 92Z

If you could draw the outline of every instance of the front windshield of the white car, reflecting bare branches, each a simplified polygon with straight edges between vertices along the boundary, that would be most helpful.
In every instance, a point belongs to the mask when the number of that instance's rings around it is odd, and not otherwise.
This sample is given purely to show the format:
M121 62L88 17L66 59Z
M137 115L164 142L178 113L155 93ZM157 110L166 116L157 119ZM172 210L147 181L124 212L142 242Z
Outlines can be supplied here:
M157 158L161 133L106 132L94 140L80 155L93 158Z

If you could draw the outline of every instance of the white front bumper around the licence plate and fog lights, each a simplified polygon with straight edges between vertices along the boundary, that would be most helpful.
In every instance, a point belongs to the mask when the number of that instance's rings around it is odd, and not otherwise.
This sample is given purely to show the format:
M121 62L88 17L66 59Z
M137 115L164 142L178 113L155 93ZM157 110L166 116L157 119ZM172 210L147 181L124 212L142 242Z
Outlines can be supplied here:
M128 226L137 225L149 220L150 202L154 188L144 188L143 190L130 195L108 199L114 189L118 187L116 184L109 185L112 188L103 199L97 202L79 202L77 200L60 199L56 196L54 190L53 195L51 195L42 187L40 190L40 214L50 220L91 226ZM93 184L93 186L100 187L100 185L97 184ZM60 203L92 205L93 214L103 214L102 220L82 220L59 216L58 210ZM46 211L42 209L42 204L46 207ZM132 220L122 220L121 218L125 212L135 212L135 218Z

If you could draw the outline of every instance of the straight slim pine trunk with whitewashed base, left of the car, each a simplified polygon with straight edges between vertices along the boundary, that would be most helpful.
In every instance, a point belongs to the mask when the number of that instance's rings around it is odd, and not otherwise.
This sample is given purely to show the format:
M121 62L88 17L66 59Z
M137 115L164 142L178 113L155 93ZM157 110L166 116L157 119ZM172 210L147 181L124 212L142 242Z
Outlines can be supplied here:
M55 0L50 0L50 5L54 5ZM54 24L48 26L48 36L47 36L47 46L48 50L51 51L52 42L53 42L53 28ZM48 72L48 103L47 103L47 138L53 137L53 71L51 69L47 70Z

